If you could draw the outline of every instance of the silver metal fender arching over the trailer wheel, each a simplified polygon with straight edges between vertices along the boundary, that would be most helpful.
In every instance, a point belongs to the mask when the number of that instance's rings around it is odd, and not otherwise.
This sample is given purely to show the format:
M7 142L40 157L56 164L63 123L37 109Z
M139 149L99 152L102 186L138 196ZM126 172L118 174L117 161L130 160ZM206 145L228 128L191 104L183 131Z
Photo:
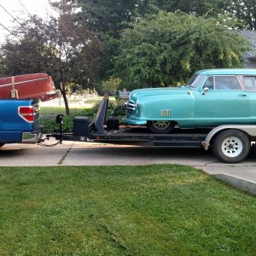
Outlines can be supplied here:
M251 137L256 137L256 125L219 125L207 134L206 140L201 143L203 148L206 150L209 148L212 137L214 137L218 132L229 129L240 130Z

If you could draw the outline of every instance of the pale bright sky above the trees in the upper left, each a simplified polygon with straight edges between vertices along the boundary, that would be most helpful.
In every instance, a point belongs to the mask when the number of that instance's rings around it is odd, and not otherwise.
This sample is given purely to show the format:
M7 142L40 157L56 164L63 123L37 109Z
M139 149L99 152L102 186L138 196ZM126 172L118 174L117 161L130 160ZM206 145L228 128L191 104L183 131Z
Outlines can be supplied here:
M9 28L19 25L15 19L19 20L29 15L38 15L46 19L47 15L53 13L48 0L0 0L0 38L3 40L3 35L9 33L3 26Z

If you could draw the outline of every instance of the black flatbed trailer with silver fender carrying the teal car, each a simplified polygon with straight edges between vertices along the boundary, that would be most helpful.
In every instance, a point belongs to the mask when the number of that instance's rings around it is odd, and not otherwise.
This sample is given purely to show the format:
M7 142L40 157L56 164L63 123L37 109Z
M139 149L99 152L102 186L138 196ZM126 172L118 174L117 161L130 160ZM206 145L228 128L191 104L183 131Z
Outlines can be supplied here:
M96 118L73 119L73 133L62 132L62 115L56 117L60 132L46 137L62 141L87 143L134 144L172 148L212 148L213 154L226 163L245 160L256 142L256 125L219 125L208 129L175 129L170 134L148 133L146 127L119 125L117 119L106 120L108 98L100 104ZM107 123L107 125L105 125Z

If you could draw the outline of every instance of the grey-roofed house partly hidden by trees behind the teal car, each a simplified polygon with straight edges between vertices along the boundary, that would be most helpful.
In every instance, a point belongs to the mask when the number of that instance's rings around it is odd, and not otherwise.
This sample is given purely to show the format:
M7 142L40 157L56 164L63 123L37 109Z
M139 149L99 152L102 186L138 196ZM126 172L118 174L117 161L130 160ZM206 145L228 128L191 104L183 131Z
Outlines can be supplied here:
M256 68L256 31L255 30L241 30L241 36L246 38L253 46L251 51L243 54L244 67Z

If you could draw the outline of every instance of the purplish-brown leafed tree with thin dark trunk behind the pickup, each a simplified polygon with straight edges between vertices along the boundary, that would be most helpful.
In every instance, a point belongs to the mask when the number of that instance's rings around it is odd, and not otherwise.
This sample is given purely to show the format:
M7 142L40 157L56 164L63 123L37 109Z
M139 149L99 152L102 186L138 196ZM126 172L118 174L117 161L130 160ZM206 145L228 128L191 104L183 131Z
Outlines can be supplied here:
M74 12L73 2L62 0L54 6L59 17L44 21L32 16L15 29L20 39L15 42L9 39L3 44L0 68L7 76L51 74L61 90L68 114L67 84L87 84L91 88L99 84L102 46L96 34Z

